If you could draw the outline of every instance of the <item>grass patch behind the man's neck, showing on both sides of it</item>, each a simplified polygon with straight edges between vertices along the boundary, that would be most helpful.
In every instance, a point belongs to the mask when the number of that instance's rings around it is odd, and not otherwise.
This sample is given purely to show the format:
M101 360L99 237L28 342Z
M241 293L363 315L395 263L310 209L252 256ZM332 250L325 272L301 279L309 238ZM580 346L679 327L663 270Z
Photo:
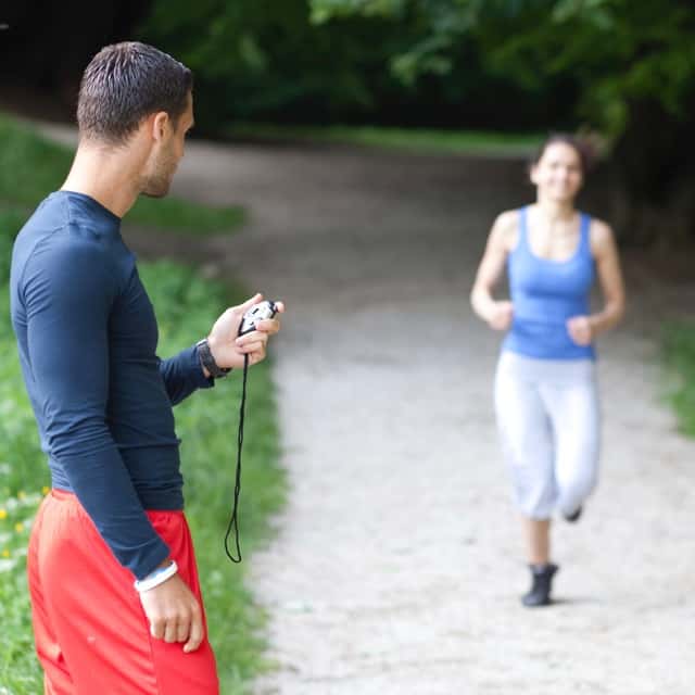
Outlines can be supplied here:
M61 187L73 152L40 137L29 126L0 114L0 215L21 212L23 222L48 193ZM175 198L140 198L127 224L188 235L230 231L244 222L239 206L207 207ZM0 224L2 223L0 218Z

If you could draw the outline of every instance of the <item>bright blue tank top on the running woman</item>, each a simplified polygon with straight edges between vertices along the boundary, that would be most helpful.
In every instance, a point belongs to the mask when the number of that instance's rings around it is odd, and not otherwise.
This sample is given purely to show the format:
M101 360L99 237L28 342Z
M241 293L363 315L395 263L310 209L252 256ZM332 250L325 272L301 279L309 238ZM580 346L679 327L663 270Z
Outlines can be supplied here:
M587 316L595 265L591 217L581 214L579 245L567 261L541 258L531 251L528 208L519 211L519 240L507 258L514 319L502 349L539 359L595 359L593 345L578 345L567 319Z

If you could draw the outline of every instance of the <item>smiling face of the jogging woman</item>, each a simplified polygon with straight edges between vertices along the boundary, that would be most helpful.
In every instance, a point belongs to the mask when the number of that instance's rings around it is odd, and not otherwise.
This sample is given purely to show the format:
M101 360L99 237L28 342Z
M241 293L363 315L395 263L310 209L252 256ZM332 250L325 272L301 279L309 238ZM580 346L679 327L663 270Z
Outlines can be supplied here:
M579 152L567 142L548 144L541 159L531 167L531 181L538 188L539 198L546 200L573 200L583 180Z

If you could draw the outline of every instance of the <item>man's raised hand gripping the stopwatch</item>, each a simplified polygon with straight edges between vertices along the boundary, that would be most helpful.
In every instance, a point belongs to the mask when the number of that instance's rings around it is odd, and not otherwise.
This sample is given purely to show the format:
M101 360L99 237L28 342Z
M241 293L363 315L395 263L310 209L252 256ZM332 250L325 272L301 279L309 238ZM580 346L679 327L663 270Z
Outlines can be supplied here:
M228 308L213 326L207 337L207 344L215 362L223 368L243 367L243 356L249 355L249 364L255 365L265 358L268 338L280 330L278 318L268 318L256 324L256 329L245 336L239 334L239 326L243 315L258 302L262 294L256 294L239 306ZM279 313L285 312L285 304L276 302Z

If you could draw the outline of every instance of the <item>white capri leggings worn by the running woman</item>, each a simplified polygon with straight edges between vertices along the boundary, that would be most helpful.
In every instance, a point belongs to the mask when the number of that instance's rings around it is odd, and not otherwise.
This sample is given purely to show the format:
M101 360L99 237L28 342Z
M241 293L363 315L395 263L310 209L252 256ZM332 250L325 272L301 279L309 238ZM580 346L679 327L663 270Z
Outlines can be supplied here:
M571 515L596 486L601 415L591 359L534 359L505 351L495 412L521 513Z

